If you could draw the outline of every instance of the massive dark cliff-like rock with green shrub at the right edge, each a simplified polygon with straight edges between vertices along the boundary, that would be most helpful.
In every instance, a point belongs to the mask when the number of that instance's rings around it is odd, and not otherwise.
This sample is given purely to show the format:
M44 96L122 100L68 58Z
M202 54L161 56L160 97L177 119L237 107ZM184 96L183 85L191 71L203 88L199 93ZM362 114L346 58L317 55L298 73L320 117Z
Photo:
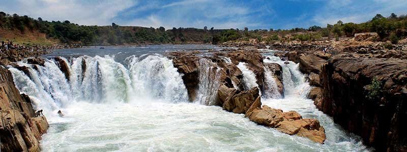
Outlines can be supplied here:
M407 150L407 60L342 53L322 66L320 76L317 107L335 123L377 151Z

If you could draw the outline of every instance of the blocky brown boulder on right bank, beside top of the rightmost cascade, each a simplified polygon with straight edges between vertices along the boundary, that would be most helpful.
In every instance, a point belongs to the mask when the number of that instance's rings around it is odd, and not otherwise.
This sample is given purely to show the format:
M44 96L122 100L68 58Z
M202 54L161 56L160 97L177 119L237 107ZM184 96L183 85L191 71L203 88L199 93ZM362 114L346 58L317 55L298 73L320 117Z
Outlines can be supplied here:
M314 54L308 54L301 56L300 59L300 70L304 73L317 73L321 72L321 66L327 63L327 60L317 57Z

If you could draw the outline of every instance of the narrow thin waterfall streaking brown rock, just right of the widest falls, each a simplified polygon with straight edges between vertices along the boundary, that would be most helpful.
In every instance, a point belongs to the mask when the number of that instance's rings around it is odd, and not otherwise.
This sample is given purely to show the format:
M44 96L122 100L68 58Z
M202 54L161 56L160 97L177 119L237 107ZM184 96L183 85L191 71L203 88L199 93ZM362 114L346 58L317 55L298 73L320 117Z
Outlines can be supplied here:
M220 68L216 63L202 58L199 60L199 84L196 101L204 105L215 105L217 90L220 86Z

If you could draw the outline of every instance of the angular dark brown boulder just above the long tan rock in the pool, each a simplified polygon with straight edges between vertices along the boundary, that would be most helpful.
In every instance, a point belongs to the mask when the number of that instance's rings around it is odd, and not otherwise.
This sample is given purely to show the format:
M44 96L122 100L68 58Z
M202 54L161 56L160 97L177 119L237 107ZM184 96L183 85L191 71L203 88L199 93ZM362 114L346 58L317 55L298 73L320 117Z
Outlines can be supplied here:
M234 113L246 113L257 97L259 97L257 87L253 87L248 91L241 91L229 100L225 100L223 109Z

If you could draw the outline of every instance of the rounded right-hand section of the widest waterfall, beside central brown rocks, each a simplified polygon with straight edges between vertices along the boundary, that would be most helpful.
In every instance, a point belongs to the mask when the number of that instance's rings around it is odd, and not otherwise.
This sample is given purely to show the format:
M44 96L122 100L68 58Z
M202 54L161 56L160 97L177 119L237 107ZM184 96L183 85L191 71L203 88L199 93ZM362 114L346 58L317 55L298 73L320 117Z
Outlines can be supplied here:
M171 60L158 54L142 58L141 61L135 56L126 60L130 61L130 76L136 97L149 96L170 102L188 100L181 75Z

